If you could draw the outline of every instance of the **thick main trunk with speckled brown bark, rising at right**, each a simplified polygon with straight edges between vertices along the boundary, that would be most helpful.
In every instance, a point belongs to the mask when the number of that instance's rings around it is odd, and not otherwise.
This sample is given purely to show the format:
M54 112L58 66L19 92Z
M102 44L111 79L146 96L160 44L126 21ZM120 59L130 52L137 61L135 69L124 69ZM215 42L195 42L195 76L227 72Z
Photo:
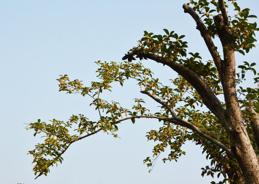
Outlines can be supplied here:
M232 154L238 160L246 183L259 183L259 162L248 137L240 106L237 102L235 88L235 55L230 30L226 29L222 15L214 18L218 26L218 36L221 39L224 53L222 62L222 86L226 102L227 119L231 125Z

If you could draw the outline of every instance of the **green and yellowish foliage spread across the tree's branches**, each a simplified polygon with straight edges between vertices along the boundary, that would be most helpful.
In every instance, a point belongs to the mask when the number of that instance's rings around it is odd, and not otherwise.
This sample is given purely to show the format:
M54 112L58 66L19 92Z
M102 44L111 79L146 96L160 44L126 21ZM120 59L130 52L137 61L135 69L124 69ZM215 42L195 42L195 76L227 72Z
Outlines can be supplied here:
M218 36L218 25L213 21L212 13L220 12L220 5L216 1L191 1L188 5L192 5L206 24L208 32L212 38ZM249 9L241 10L237 6L236 1L227 1L226 8L231 7L236 14L229 16L228 26L221 29L229 29L233 35L234 50L244 54L248 53L255 45L256 22L249 23L249 18L256 17L249 15ZM217 16L217 15L214 15ZM171 152L163 161L175 160L185 152L182 145L186 141L196 142L203 148L206 158L211 160L211 165L202 168L202 176L211 175L217 177L223 175L225 178L222 182L228 180L232 182L234 176L242 176L239 164L230 152L231 141L228 132L222 126L216 116L204 106L201 94L191 85L188 80L178 73L174 79L170 79L171 85L165 86L159 82L157 78L152 77L152 72L143 66L141 62L132 63L136 58L140 60L153 59L157 61L164 58L166 61L172 61L181 66L184 71L191 71L202 79L206 85L214 92L218 99L223 99L224 91L218 74L217 67L213 60L203 61L199 53L188 53L187 42L184 35L178 35L174 31L164 29L164 35L155 35L144 31L144 36L139 40L136 47L130 50L123 60L125 62L101 62L97 73L98 82L92 82L90 86L84 86L82 81L72 80L67 75L61 75L57 81L59 82L59 91L66 91L68 94L81 94L92 98L91 106L99 113L97 121L90 121L83 114L78 116L72 115L67 122L51 120L50 123L38 120L31 123L27 128L33 129L36 134L45 134L45 141L37 144L35 149L29 151L34 159L33 168L35 175L38 176L49 172L49 167L57 163L62 163L62 154L69 146L79 140L84 139L99 131L104 131L117 137L116 131L118 124L131 120L135 123L135 119L154 118L163 122L163 126L158 130L150 130L147 132L149 141L157 142L153 147L152 157L144 159L144 163L150 167L150 171L154 166L158 156L169 147ZM158 62L158 61L157 61ZM162 62L163 63L163 62ZM165 63L163 63L165 65ZM238 103L243 113L244 124L248 131L251 144L259 154L259 148L256 146L252 127L250 124L251 114L247 112L248 107L253 107L259 112L259 73L256 72L255 63L247 61L239 65L239 71L236 73L236 87ZM254 87L247 87L243 84L247 74L253 74L255 77ZM126 80L133 79L140 86L141 93L146 94L160 104L159 110L151 112L145 107L144 99L134 99L131 109L120 106L118 102L108 102L101 99L101 94L112 89L112 83L117 82L124 85ZM257 85L257 86L256 86ZM226 108L225 102L221 105ZM74 126L77 126L73 130ZM222 146L225 145L226 147ZM37 176L37 177L38 177ZM231 177L230 177L231 176ZM220 183L222 183L220 182ZM212 183L215 183L214 181Z

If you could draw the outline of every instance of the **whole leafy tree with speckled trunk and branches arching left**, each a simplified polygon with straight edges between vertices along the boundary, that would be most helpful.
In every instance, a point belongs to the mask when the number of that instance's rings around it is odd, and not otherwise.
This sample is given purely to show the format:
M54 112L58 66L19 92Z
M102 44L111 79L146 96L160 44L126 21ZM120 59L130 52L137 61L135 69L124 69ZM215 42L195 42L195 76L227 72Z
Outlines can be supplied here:
M233 16L226 10L231 7L236 12ZM212 60L203 61L199 53L187 53L185 36L164 29L165 35L145 31L138 45L123 57L128 61L97 61L98 81L89 87L61 75L57 79L59 91L92 98L90 105L95 107L99 117L97 121L90 121L78 114L67 122L53 119L50 124L41 120L29 124L27 128L34 129L34 136L46 134L44 143L29 151L34 157L33 170L37 177L47 175L50 166L62 163L63 153L74 142L100 131L117 137L119 123L131 120L134 124L136 119L151 118L163 122L163 126L147 133L148 140L158 142L152 150L153 158L144 160L150 170L166 147L171 152L163 161L176 160L185 154L181 146L191 140L211 159L211 166L203 168L202 175L223 175L222 182L259 183L259 89L256 86L259 74L253 68L254 62L245 61L237 68L235 63L235 52L245 55L255 47L254 32L259 29L248 19L256 16L250 15L248 8L241 10L236 1L191 1L184 4L183 9L196 22ZM214 45L215 37L220 38L223 56L218 51L221 45L218 48ZM152 78L152 72L141 62L132 63L136 58L169 66L178 77L171 79L171 86L165 86ZM250 79L254 80L254 87L243 84L249 72L254 74ZM112 83L123 86L129 79L135 80L141 93L156 101L160 109L150 112L143 99L135 99L132 109L101 99L104 91L111 90ZM75 131L69 133L75 126Z

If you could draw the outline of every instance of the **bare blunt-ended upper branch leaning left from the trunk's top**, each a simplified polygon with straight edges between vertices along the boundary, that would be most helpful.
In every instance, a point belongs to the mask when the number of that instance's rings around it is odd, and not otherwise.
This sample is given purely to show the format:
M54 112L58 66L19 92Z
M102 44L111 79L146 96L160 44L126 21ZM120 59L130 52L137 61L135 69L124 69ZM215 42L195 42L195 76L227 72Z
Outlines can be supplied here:
M215 45L212 41L212 38L209 34L207 27L204 25L200 16L198 16L198 14L190 6L188 6L187 4L184 4L183 8L184 8L184 12L189 13L192 16L192 18L195 20L196 25L197 25L196 29L201 32L203 39L207 45L207 48L217 67L217 71L221 76L221 74L222 74L221 57L217 52L217 48L215 47Z

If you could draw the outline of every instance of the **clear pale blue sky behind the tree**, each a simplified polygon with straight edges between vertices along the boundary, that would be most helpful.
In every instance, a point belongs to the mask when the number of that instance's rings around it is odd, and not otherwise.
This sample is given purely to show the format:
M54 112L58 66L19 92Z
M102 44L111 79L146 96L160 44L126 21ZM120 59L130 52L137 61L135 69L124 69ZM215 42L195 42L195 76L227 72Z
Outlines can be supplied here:
M26 131L24 123L53 118L66 121L78 113L96 120L96 112L89 107L91 99L59 93L55 79L68 74L71 79L89 84L95 80L94 61L121 61L144 30L162 34L166 28L184 34L188 52L200 52L205 60L211 59L194 20L183 11L182 5L187 2L0 1L0 182L209 183L212 178L202 178L200 170L209 162L194 143L184 146L187 155L177 163L164 164L161 159L167 154L161 155L148 173L143 160L152 155L154 143L147 142L145 133L161 126L150 120L120 124L121 139L98 133L72 145L64 154L64 163L51 167L47 177L34 180L32 156L27 155L41 139L34 137L33 131ZM241 9L250 8L252 14L259 16L259 1L239 2ZM256 45L246 57L236 55L237 63L258 62ZM144 61L144 65L162 81L175 77L173 71L153 61ZM123 88L114 86L113 92L103 98L130 108L133 98L147 97L129 82ZM147 102L151 107L157 106Z

